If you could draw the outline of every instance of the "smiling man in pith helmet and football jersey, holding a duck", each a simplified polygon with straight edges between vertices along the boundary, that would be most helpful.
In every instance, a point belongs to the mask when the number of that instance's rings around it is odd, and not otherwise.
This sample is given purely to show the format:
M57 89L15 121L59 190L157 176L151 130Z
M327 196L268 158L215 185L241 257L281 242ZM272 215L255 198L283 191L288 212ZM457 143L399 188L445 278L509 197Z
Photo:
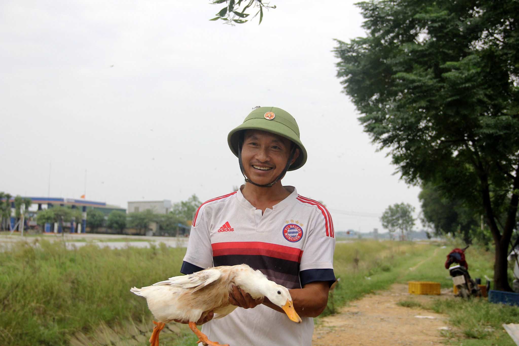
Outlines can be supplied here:
M181 272L248 264L290 289L303 322L296 324L268 299L255 301L233 287L230 301L244 309L221 320L210 321L212 313L202 316L198 322L207 322L202 332L233 346L310 345L311 317L324 310L335 281L335 239L326 208L281 185L286 171L301 168L307 159L297 123L281 108L256 107L227 141L245 185L199 207Z

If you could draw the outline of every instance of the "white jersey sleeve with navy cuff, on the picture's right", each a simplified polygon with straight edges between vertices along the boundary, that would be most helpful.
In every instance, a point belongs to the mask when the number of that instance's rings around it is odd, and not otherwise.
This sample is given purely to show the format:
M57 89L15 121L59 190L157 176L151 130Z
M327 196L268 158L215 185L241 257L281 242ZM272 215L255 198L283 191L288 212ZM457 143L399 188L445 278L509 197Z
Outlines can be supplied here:
M319 214L307 229L308 238L299 264L299 280L302 287L314 281L326 281L329 285L335 282L335 238L332 218L325 210L323 214Z

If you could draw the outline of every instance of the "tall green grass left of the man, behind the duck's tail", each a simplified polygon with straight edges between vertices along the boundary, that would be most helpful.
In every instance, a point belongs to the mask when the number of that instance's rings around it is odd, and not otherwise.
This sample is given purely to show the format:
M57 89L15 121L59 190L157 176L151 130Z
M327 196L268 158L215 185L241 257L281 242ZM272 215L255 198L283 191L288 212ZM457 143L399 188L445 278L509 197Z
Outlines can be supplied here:
M129 288L178 274L184 253L166 246L67 251L62 242L20 242L0 252L0 344L66 344L67 336L101 321L151 317Z

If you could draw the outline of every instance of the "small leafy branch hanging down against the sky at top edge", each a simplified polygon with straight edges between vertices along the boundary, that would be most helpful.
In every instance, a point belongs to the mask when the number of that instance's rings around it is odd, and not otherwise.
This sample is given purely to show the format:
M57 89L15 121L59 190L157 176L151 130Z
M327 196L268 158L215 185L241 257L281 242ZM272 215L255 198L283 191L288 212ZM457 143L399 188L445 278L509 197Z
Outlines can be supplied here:
M276 8L276 5L270 6L270 3L265 3L262 0L213 0L211 4L218 5L225 3L225 7L222 8L218 13L216 13L216 17L210 20L224 20L226 24L235 25L237 24L243 24L249 19L251 13L247 12L254 12L254 16L251 18L256 17L257 15L260 15L260 22L258 24L261 24L263 20L263 9L269 9L269 8ZM247 11L247 12L245 12Z

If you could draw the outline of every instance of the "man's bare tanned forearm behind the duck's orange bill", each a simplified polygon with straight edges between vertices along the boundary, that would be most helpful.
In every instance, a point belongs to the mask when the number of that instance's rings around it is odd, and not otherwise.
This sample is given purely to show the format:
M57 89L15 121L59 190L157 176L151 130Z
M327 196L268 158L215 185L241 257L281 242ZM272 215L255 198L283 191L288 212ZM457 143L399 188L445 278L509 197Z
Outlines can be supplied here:
M303 288L290 289L295 311L301 317L319 316L328 302L328 283L311 282ZM263 304L276 311L284 313L283 309L274 305L265 297Z

